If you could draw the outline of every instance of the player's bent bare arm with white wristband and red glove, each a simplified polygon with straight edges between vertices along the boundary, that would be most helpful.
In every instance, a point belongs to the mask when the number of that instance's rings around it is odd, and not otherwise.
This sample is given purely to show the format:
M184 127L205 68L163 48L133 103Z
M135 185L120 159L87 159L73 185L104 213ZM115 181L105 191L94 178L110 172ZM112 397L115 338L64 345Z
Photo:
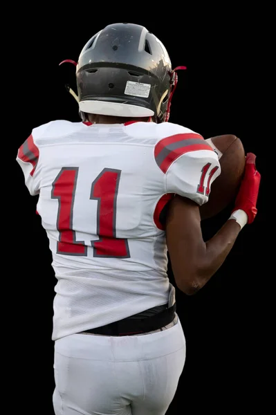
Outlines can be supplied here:
M166 237L176 285L187 295L199 291L217 272L246 223L257 214L260 174L248 154L243 181L230 219L209 241L203 241L199 205L176 196L169 206Z

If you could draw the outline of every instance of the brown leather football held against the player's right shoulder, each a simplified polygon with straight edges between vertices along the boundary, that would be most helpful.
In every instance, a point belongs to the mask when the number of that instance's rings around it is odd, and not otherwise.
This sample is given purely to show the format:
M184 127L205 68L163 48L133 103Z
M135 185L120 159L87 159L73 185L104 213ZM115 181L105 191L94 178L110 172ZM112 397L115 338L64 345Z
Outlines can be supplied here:
M243 144L236 136L225 134L206 141L219 156L221 174L212 183L208 202L200 208L201 220L219 214L234 201L246 163Z

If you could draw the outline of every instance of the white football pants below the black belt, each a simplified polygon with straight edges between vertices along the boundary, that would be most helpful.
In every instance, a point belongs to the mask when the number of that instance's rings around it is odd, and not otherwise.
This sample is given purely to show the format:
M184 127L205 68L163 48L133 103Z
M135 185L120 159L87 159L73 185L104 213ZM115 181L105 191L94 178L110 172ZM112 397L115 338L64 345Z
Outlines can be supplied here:
M185 355L179 320L145 335L74 334L56 340L55 414L165 415Z

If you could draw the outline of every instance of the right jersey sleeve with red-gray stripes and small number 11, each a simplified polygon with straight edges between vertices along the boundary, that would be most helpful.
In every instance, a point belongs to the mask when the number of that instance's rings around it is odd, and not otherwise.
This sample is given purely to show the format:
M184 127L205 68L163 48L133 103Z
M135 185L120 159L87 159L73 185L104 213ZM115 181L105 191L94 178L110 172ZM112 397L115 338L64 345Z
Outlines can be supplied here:
M158 141L154 156L164 174L165 191L203 205L221 174L219 158L204 138L185 127Z

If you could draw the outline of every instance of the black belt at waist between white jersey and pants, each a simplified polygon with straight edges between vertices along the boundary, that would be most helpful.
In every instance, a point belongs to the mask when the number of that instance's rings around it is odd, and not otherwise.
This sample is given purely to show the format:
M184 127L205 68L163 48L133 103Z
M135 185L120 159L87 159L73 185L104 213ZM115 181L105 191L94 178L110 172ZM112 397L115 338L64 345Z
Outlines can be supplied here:
M174 320L176 312L176 303L172 307L166 308L164 311L152 315L151 317L133 319L130 317L118 322L107 324L106 326L96 327L82 331L82 333L102 334L102 335L135 335L140 333L148 333L161 329Z

